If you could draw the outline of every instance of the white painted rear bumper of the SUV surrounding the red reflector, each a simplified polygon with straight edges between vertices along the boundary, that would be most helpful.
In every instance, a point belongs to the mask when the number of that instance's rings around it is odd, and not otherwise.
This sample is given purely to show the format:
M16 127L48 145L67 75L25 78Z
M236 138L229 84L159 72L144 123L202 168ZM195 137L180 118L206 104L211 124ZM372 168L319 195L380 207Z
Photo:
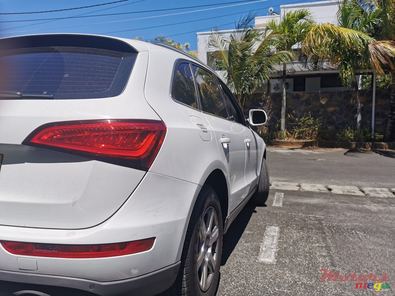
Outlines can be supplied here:
M0 240L4 241L94 245L156 237L148 251L108 258L21 256L7 252L0 245L0 270L108 283L170 266L181 258L189 215L199 188L196 184L148 172L118 212L95 227L41 229L0 225ZM33 263L21 265L18 258Z

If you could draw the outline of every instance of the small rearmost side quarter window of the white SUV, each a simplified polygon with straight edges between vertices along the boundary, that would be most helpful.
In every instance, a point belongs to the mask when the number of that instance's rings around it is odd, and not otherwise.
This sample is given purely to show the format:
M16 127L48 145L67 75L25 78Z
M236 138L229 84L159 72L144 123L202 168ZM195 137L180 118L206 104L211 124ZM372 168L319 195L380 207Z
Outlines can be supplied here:
M177 66L171 95L175 100L198 109L195 82L188 63Z

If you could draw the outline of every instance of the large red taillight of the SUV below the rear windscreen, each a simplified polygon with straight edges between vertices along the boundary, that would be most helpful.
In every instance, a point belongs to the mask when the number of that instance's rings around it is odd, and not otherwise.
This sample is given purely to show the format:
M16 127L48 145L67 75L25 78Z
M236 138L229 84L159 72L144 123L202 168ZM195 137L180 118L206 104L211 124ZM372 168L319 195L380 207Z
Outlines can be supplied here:
M166 126L156 120L89 120L40 126L22 144L148 170Z

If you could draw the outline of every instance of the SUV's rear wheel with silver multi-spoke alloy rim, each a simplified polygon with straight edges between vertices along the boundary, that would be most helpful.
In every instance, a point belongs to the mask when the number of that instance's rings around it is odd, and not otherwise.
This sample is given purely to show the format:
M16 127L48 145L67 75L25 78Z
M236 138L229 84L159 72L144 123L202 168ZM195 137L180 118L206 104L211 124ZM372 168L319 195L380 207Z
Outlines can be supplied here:
M165 296L216 294L222 255L222 221L218 196L210 186L204 185L191 215L177 279Z

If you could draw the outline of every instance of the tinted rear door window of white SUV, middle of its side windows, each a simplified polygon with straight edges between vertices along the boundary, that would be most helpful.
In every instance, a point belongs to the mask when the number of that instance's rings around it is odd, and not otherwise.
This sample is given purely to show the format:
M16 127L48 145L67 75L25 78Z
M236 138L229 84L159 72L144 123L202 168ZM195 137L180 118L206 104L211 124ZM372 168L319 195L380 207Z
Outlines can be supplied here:
M192 66L197 82L197 89L201 98L202 110L217 116L228 118L221 90L213 75L201 68Z

